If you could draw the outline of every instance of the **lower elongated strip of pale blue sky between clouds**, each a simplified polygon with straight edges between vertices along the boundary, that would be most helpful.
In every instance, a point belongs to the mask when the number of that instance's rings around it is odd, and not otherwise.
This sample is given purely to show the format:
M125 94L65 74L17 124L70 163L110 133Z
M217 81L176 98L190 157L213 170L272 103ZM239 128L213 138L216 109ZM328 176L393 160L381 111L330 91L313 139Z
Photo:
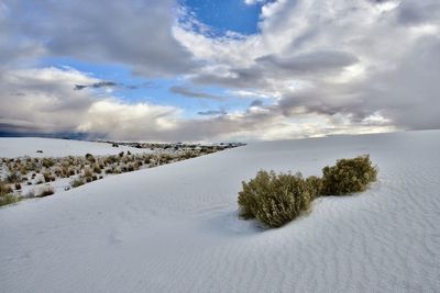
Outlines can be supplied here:
M189 89L195 92L223 97L223 99L185 97L169 90L174 86L182 86L180 79L145 79L132 75L128 67L121 65L91 64L67 57L44 58L40 63L40 67L50 66L73 68L102 81L114 82L118 86L112 87L111 93L107 94L111 94L128 103L145 102L156 105L175 106L182 109L182 115L187 119L198 117L198 112L210 110L222 110L226 112L245 111L251 103L251 100L233 97L224 89L218 87L189 87Z

